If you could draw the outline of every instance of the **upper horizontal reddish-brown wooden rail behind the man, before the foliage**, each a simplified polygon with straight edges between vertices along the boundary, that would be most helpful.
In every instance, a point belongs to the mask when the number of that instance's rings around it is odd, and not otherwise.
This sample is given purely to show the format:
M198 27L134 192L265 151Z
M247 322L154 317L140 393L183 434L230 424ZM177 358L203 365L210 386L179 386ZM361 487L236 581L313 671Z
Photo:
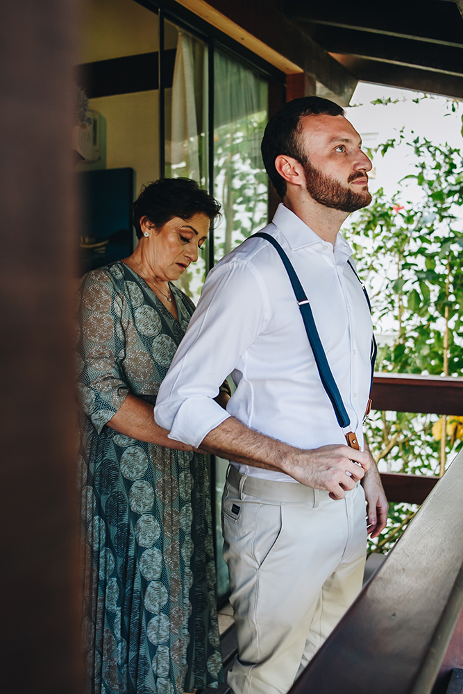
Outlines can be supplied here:
M463 415L463 378L377 373L373 409Z

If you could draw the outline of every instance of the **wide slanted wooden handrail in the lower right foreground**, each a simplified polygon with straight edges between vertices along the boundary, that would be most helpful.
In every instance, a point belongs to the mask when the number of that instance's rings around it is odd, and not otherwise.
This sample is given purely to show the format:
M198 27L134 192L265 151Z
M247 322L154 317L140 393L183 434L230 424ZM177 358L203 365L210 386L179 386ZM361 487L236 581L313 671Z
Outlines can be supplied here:
M429 694L463 604L463 452L291 694Z

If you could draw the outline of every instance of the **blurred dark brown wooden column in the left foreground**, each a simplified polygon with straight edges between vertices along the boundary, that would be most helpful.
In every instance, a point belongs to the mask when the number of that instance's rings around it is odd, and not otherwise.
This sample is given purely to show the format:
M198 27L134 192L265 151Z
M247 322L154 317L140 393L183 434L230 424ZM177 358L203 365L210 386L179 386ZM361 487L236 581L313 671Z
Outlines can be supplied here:
M0 7L1 691L78 687L74 0Z

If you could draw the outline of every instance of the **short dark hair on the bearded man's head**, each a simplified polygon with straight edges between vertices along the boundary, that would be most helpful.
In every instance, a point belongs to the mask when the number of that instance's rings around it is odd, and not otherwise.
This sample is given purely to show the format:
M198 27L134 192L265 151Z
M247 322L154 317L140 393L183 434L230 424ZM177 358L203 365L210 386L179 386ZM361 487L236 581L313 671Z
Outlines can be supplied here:
M321 96L302 96L288 101L267 123L262 138L262 159L280 198L285 197L286 181L276 171L275 160L279 154L285 154L305 164L307 157L301 141L301 118L322 114L344 116L344 109Z

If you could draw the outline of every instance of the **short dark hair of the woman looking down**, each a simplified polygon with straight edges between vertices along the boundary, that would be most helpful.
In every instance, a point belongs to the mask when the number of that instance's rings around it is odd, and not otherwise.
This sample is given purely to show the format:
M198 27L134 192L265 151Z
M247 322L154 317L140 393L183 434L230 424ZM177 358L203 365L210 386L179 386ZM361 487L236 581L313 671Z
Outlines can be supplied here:
M199 212L214 221L220 212L220 203L191 178L160 178L142 187L142 192L133 203L133 226L141 239L142 217L148 217L160 229L174 217L190 219Z

